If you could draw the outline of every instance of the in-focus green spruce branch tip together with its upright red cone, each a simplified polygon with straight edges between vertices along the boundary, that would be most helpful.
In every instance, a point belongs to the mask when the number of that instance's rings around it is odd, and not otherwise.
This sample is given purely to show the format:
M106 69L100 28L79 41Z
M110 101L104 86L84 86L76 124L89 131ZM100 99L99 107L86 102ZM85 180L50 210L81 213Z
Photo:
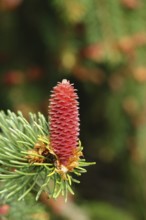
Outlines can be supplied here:
M67 199L68 191L74 194L72 182L79 181L71 173L81 175L86 172L83 167L92 164L81 158L76 98L73 86L66 80L54 88L49 107L50 135L41 113L30 113L27 121L21 112L0 112L3 200L21 200L31 191L36 193L36 199L42 191L53 198L62 193Z

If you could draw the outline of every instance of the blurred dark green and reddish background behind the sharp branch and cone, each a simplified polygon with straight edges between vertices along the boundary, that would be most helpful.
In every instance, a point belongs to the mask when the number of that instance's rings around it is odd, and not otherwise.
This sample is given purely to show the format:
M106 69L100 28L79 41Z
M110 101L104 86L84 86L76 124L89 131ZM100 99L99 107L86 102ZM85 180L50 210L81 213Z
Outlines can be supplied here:
M4 220L146 219L146 1L0 0L0 108L42 112L63 78L96 165L64 204L6 204Z

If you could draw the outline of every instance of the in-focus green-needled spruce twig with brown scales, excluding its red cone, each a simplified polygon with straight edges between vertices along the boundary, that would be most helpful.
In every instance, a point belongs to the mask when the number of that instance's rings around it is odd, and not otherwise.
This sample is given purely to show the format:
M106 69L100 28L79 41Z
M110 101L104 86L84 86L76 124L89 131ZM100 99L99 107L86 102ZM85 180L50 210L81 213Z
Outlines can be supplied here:
M61 149L60 160L59 151L51 143L48 122L41 113L30 113L26 120L20 111L17 114L1 111L0 128L0 198L3 201L22 200L29 192L35 192L38 200L42 191L55 199L62 194L67 200L68 192L74 194L72 183L79 183L72 174L80 176L86 172L85 166L94 164L82 157L80 141L70 157L68 154L64 157Z

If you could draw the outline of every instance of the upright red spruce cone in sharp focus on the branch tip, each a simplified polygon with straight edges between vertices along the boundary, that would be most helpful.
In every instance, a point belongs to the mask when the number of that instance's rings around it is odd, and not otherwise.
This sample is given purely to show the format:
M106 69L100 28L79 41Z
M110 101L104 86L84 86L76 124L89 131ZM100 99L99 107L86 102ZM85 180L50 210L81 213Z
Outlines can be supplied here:
M74 157L79 136L78 96L66 79L53 88L49 105L50 143L60 164Z

